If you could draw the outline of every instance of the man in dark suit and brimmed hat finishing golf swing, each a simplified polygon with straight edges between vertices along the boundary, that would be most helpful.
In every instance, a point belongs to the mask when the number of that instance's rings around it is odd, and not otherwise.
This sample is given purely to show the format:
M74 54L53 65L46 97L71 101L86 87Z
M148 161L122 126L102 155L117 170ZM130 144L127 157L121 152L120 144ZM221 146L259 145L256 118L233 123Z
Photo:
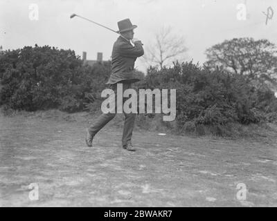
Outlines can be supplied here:
M144 54L143 44L139 39L134 39L134 28L137 26L132 25L129 19L124 19L118 21L118 31L120 34L116 42L114 43L114 48L111 54L111 76L109 77L109 87L114 90L115 95L117 90L117 84L123 84L123 93L128 88L132 87L132 83L139 81L139 78L135 77L134 62L137 57L141 57ZM132 44L130 43L132 40ZM116 97L116 96L115 96ZM117 99L117 97L116 97ZM123 103L127 98L123 98ZM117 102L115 102L116 104ZM117 110L115 106L115 110ZM122 146L127 151L136 151L136 148L132 146L132 132L134 128L135 113L125 113ZM92 146L93 137L103 128L111 119L116 116L116 111L114 113L102 113L96 122L87 129L87 135L85 141L87 146Z

